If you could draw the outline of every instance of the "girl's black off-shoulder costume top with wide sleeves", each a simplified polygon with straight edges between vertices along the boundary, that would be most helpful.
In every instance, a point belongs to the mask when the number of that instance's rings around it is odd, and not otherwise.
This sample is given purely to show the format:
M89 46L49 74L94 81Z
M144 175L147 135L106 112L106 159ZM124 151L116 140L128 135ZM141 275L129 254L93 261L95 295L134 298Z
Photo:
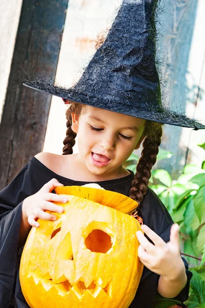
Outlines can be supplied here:
M120 192L128 196L133 177L134 174L131 173L121 179L100 181L97 183L107 190ZM0 192L0 307L2 308L29 307L22 294L18 274L16 277L19 267L17 262L17 255L19 255L17 244L22 217L22 202L28 196L35 194L35 192L52 178L56 178L65 186L81 186L88 183L73 181L58 176L33 157L19 172L16 178ZM156 234L165 242L169 241L170 228L173 221L165 206L150 188L141 204L139 214L143 218L144 223ZM188 283L176 297L181 302L184 302L188 298L189 281L192 277L192 273L188 270L186 260L183 259L183 262L186 266ZM158 279L158 275L144 266L136 296L130 305L131 308L152 307L151 302L157 292ZM14 294L14 297L12 297L12 294Z

